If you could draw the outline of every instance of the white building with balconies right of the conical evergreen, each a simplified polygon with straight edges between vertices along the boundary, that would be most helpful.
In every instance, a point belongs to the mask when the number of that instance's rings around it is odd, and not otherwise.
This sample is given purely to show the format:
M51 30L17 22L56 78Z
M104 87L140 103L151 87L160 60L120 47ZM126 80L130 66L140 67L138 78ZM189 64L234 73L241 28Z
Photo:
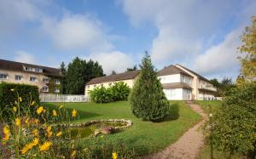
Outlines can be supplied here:
M215 99L217 91L205 77L182 65L170 65L158 72L167 99Z

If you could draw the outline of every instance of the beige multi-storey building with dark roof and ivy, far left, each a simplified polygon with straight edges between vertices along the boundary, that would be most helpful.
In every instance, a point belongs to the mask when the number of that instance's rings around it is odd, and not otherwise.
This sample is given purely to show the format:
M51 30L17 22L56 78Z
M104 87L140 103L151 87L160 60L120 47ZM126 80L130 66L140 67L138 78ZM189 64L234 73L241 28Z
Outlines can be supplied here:
M32 65L0 60L0 83L13 82L38 86L41 93L61 93L61 70L42 65Z

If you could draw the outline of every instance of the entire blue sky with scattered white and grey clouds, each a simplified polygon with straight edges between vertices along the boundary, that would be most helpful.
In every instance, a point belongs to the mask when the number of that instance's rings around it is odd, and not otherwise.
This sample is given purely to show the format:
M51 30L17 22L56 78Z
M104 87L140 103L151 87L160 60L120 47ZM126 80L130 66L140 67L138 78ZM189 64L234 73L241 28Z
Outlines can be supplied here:
M0 0L0 59L59 67L79 56L105 73L181 64L208 78L239 73L236 48L255 0Z

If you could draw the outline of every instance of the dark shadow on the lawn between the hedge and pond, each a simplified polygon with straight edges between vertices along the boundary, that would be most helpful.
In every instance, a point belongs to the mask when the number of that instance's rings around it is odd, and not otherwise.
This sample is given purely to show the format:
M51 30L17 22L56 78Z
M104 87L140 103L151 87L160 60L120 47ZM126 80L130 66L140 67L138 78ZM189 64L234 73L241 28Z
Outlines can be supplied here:
M54 105L54 104L47 104L45 105L49 111L52 111L53 109L56 109L56 106L57 105ZM73 111L72 108L66 108L68 114L71 116L71 113ZM78 111L78 114L79 114L79 120L83 120L83 119L88 119L88 118L92 118L92 117L96 117L96 116L102 116L102 114L98 114L98 113L94 113L94 112L88 112L88 111Z

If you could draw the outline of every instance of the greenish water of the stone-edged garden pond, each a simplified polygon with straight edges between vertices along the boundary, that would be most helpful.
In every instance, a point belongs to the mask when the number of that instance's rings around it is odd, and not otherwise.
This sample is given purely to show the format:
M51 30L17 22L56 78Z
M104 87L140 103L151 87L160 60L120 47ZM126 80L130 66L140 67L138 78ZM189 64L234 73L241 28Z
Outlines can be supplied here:
M93 135L96 129L123 127L125 125L127 125L125 122L96 122L84 127L67 128L67 131L64 134L67 138L70 135L71 139L81 139Z

